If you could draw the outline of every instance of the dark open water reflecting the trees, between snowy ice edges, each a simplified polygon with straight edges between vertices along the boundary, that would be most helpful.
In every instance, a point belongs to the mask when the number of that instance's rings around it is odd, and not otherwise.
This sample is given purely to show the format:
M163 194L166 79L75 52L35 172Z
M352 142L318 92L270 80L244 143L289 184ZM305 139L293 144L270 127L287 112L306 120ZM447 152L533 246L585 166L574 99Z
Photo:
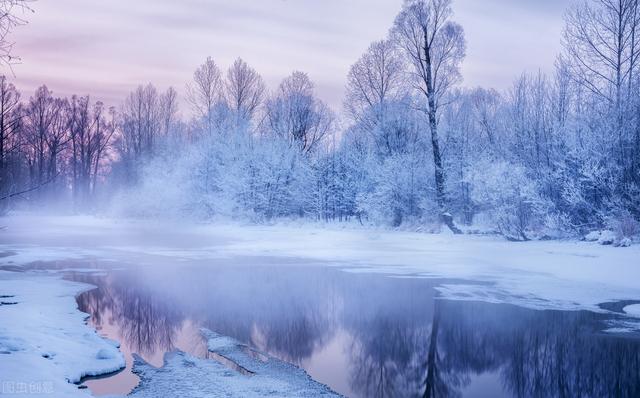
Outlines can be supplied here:
M428 279L323 267L138 268L71 273L100 333L155 366L206 356L209 328L303 367L351 397L640 397L640 340L600 332L611 315L437 300ZM127 393L123 372L85 382Z

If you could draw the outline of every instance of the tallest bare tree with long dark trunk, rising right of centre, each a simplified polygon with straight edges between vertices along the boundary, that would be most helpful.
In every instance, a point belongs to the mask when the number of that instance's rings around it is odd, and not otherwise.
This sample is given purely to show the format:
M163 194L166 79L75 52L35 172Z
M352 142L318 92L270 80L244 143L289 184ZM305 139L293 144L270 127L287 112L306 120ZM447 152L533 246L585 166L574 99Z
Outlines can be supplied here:
M449 89L460 80L466 43L460 25L450 21L451 0L405 0L393 28L393 37L413 65L417 90L425 98L435 168L436 197L444 221L450 220L445 194L445 172L438 136L438 109ZM449 227L457 231L452 222Z

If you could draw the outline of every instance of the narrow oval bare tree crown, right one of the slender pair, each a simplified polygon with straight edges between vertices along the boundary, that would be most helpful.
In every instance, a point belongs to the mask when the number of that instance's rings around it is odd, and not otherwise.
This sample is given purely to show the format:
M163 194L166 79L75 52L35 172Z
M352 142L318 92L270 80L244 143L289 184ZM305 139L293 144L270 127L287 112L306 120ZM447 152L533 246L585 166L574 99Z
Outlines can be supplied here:
M255 69L238 58L227 71L225 96L238 120L250 121L264 100L264 81Z

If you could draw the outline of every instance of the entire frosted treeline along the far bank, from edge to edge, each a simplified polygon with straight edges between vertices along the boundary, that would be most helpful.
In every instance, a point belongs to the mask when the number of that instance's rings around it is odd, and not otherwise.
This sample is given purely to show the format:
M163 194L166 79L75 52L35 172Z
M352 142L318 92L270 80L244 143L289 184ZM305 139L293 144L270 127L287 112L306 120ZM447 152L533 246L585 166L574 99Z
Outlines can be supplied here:
M2 78L0 197L135 216L482 226L517 240L609 228L621 241L640 218L638 3L573 6L555 72L500 93L460 88L451 1L407 0L352 66L340 116L305 73L269 91L240 59L196 70L188 120L171 88L141 86L115 110L46 87L22 101Z

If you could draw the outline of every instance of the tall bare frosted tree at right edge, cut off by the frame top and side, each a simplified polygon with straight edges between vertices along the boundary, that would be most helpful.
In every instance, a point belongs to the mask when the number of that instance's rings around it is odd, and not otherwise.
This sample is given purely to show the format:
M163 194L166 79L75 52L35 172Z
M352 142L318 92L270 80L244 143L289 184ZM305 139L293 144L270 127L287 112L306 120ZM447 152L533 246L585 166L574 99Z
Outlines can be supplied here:
M640 183L640 118L637 87L640 57L638 0L589 0L566 16L563 46L573 80L604 103L614 138L610 158L618 166L623 190ZM635 120L634 120L635 119ZM635 141L635 143L634 143ZM612 176L613 177L613 176Z

